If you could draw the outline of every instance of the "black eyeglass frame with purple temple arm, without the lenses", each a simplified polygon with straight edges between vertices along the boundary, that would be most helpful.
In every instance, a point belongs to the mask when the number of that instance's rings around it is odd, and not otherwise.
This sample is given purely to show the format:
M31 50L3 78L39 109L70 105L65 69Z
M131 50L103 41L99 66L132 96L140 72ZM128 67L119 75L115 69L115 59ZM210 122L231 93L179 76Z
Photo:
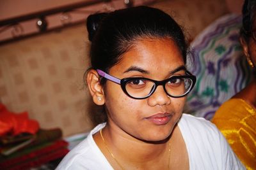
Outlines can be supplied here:
M152 79L150 79L150 78L141 78L141 77L122 78L122 79L120 80L119 78L116 78L116 77L114 77L114 76L111 76L111 75L105 73L104 71L101 71L100 69L97 69L97 73L98 73L100 76L106 78L107 80L110 80L110 81L113 81L114 83L120 84L120 86L121 86L122 90L124 91L124 93L125 93L127 96L131 97L132 99L146 99L146 98L150 97L150 96L156 91L156 89L157 89L157 87L158 87L159 85L163 85L164 92L166 92L166 94L167 94L168 96L170 96L170 97L175 97L175 98L184 97L184 96L186 96L189 92L191 92L191 90L193 89L193 87L195 86L195 83L196 83L196 76L194 76L193 74L191 74L189 71L186 71L186 75L184 75L184 76L171 76L170 78L167 78L167 79L162 80L162 81L152 80ZM189 78L190 80L192 80L192 85L191 85L190 89L189 89L185 94L183 94L183 95L181 95L181 96L172 96L172 95L168 94L167 90L165 89L165 84L166 84L166 82L168 82L168 81L170 81L170 80L173 80L173 79L175 79L175 78L179 78L179 79L180 79L180 78ZM138 97L133 97L133 96L131 96L131 95L127 92L127 90L126 90L126 88L125 88L127 82L129 82L129 81L131 81L131 80L138 80L138 79L140 79L140 80L149 80L149 81L154 82L154 86L152 87L150 93L149 93L147 96L145 96L145 97L139 97L139 98L138 98Z

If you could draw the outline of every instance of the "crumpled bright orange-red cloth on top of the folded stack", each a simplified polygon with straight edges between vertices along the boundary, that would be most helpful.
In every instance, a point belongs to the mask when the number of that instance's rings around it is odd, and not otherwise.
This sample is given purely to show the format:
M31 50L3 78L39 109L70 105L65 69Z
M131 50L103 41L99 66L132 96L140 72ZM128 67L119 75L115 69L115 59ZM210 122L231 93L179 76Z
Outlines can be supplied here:
M12 113L0 103L0 136L10 134L16 136L23 132L35 134L39 129L36 120L30 120L28 112Z

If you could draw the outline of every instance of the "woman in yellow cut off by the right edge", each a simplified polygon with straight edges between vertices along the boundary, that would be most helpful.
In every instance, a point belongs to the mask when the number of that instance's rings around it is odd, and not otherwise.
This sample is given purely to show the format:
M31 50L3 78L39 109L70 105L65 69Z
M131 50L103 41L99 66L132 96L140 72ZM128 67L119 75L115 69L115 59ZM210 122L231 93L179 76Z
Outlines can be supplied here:
M246 169L256 169L256 1L243 5L241 45L253 80L216 111L212 122L227 138L228 143Z

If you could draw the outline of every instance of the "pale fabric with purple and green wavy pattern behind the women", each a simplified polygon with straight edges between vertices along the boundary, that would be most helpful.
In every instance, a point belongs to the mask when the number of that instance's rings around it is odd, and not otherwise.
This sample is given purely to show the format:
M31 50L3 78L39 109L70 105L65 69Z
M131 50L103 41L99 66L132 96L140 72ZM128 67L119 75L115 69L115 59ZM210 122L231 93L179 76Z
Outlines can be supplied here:
M225 15L209 25L191 43L189 71L197 78L185 111L210 120L222 103L252 78L239 43L240 15Z

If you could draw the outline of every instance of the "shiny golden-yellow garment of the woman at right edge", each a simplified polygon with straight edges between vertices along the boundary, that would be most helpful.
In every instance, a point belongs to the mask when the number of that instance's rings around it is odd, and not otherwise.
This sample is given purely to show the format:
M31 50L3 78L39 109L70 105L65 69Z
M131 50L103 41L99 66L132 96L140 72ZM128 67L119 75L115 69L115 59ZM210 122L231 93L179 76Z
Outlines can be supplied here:
M230 99L212 122L220 129L246 169L256 169L256 110L243 99Z

